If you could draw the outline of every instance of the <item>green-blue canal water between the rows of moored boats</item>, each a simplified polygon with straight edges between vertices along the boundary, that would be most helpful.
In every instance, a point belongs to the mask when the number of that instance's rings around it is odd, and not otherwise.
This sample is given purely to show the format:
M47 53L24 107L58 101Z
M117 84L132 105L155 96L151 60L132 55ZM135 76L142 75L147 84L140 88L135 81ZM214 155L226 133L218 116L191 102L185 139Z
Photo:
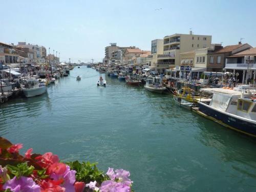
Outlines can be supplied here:
M81 81L76 81L76 76ZM102 75L104 77L104 74ZM48 94L0 106L0 135L24 153L99 162L130 170L136 191L255 191L252 138L86 66L56 81ZM104 77L105 78L105 77Z

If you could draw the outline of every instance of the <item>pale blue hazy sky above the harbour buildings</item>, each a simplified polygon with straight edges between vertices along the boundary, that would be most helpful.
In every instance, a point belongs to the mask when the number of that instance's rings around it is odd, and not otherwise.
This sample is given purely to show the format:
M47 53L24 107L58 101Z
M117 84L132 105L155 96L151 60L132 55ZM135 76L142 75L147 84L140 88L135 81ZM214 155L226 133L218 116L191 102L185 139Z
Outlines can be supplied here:
M1 1L0 41L49 47L61 61L102 61L110 42L151 50L175 33L212 35L223 46L256 47L256 1L12 0Z

